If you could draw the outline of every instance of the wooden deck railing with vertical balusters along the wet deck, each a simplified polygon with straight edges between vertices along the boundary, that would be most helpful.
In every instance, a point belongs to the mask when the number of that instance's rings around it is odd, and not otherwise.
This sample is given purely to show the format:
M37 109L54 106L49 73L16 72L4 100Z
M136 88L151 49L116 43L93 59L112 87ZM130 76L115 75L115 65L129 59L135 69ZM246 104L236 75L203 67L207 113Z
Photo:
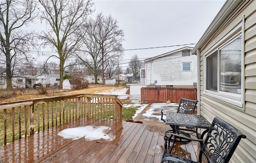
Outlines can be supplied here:
M0 146L82 116L122 121L115 95L76 94L0 103Z

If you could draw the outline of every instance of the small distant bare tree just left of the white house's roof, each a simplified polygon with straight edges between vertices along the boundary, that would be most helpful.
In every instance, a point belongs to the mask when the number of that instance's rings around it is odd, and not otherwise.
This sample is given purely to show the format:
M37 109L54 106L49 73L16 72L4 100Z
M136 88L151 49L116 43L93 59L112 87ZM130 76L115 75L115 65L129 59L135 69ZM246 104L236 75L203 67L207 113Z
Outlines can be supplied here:
M130 60L130 63L129 63L129 69L132 71L134 79L135 77L140 75L140 69L143 66L144 66L144 62L140 61L136 54L132 55L132 59Z

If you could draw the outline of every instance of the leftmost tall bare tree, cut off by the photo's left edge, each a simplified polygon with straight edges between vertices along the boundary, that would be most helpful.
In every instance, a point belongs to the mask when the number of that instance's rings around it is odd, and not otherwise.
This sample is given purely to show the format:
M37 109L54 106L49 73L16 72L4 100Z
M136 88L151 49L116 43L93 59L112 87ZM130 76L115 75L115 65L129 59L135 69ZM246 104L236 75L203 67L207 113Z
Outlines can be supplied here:
M0 43L5 55L6 89L12 89L13 68L19 55L26 55L32 45L32 32L24 27L34 21L37 2L35 0L3 0L0 4ZM28 57L28 56L25 56Z

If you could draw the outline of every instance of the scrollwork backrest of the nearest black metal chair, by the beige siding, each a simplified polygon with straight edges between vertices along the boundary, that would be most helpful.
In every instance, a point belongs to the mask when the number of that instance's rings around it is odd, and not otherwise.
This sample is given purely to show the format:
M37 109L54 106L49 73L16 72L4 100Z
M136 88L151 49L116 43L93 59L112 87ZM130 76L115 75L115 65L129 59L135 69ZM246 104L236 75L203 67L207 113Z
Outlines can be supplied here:
M204 154L209 163L228 163L242 138L246 138L242 132L215 117L201 147L199 162Z

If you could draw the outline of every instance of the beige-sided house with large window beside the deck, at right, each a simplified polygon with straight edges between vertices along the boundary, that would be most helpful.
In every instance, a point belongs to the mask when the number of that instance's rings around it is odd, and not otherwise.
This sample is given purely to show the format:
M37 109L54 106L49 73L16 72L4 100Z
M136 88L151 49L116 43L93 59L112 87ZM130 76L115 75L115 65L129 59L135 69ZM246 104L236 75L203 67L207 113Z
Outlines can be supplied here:
M230 159L256 162L256 1L226 1L192 54L198 59L198 114L219 117L242 139Z

